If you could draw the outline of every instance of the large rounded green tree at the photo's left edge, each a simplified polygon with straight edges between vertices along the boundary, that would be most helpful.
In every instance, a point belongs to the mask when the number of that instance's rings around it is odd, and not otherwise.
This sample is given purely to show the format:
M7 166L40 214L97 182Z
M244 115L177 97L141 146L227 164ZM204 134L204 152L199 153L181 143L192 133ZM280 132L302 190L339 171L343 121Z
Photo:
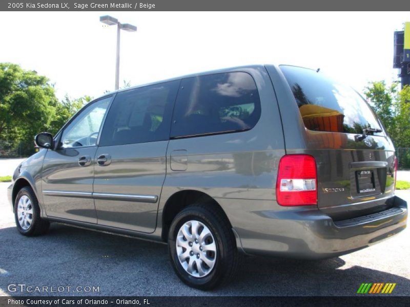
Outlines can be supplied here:
M47 130L57 106L49 79L19 65L0 63L0 137L33 140ZM9 135L10 134L10 135Z

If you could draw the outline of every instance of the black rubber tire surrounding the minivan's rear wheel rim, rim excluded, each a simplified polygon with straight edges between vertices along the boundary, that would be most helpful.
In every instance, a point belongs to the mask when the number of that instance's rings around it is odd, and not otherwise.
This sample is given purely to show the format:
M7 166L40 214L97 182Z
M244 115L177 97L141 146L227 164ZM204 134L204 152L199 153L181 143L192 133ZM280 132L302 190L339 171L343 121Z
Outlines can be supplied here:
M178 277L188 286L209 290L233 278L238 267L239 255L234 233L223 212L209 204L191 205L179 212L172 221L168 234L168 249L172 266ZM180 227L188 221L199 221L211 231L216 243L215 264L210 273L203 277L190 275L181 265L177 250L176 237Z

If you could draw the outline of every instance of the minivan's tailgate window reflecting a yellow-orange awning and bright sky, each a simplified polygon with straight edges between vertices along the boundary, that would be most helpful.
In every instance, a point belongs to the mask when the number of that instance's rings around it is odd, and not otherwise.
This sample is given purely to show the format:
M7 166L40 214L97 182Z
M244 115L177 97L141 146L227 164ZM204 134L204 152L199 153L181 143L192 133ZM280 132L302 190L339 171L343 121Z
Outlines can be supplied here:
M291 86L306 128L353 134L362 134L370 127L381 129L370 106L350 86L311 69L285 65L280 69Z

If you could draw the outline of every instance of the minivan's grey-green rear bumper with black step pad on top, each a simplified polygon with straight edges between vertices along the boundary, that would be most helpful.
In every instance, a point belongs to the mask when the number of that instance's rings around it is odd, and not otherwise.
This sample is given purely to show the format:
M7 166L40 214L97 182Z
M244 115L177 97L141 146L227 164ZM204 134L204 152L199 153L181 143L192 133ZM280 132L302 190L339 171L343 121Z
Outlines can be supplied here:
M237 243L245 253L318 259L354 252L402 231L407 203L394 196L393 207L388 210L339 222L317 208L257 215L257 227L234 226Z

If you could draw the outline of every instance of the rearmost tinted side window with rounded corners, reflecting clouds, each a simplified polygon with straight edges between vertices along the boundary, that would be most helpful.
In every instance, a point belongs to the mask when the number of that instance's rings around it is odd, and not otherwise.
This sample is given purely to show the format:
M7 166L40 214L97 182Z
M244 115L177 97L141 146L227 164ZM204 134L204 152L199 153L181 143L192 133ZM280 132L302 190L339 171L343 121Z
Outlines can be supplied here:
M187 78L175 103L171 137L249 130L259 117L259 94L248 73Z

